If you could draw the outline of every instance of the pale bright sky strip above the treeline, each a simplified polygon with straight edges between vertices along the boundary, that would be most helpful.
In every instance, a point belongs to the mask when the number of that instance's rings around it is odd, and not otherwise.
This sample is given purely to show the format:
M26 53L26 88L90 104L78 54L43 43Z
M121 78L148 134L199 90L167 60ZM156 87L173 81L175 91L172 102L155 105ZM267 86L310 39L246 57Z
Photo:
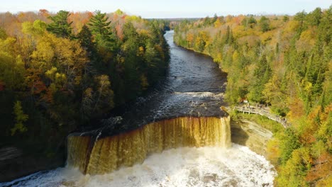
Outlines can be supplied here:
M111 13L118 8L143 18L202 18L228 14L288 14L328 8L332 0L3 0L0 12L95 11Z

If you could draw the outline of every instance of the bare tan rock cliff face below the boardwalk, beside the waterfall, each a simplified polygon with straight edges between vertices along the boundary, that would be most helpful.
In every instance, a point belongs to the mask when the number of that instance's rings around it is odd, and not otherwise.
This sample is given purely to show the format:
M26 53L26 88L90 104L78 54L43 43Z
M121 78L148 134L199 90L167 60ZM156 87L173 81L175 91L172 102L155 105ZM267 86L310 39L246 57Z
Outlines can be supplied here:
M267 155L267 141L272 138L272 132L249 120L231 120L231 139L238 145L249 147L253 152Z

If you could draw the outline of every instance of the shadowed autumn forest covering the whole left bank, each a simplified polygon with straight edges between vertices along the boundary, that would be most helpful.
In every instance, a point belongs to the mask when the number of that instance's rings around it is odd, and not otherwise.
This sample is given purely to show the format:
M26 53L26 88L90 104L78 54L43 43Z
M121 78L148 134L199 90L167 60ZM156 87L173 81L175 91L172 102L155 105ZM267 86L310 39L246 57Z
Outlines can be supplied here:
M0 147L65 163L70 132L165 77L164 33L121 10L0 13Z

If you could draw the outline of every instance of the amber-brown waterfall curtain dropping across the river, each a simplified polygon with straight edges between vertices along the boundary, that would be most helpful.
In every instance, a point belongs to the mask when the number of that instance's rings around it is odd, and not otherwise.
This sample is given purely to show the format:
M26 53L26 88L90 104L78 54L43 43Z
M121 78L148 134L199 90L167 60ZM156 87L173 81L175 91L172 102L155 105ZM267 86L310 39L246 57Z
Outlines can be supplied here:
M68 166L83 174L106 174L142 163L149 155L177 147L230 147L230 117L179 117L149 123L111 137L68 137Z

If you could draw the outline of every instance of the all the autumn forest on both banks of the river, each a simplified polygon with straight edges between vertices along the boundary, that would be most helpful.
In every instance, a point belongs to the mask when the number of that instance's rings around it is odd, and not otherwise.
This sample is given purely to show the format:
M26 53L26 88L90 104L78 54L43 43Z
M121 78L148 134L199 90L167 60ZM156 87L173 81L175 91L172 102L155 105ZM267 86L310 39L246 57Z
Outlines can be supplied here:
M119 9L0 13L0 148L18 147L25 159L6 167L40 164L24 176L63 166L67 135L96 128L165 82L172 45L164 35L172 29L177 47L210 56L226 74L228 108L259 103L289 123L263 119L273 132L266 159L275 186L331 185L331 26L332 6L171 21Z

